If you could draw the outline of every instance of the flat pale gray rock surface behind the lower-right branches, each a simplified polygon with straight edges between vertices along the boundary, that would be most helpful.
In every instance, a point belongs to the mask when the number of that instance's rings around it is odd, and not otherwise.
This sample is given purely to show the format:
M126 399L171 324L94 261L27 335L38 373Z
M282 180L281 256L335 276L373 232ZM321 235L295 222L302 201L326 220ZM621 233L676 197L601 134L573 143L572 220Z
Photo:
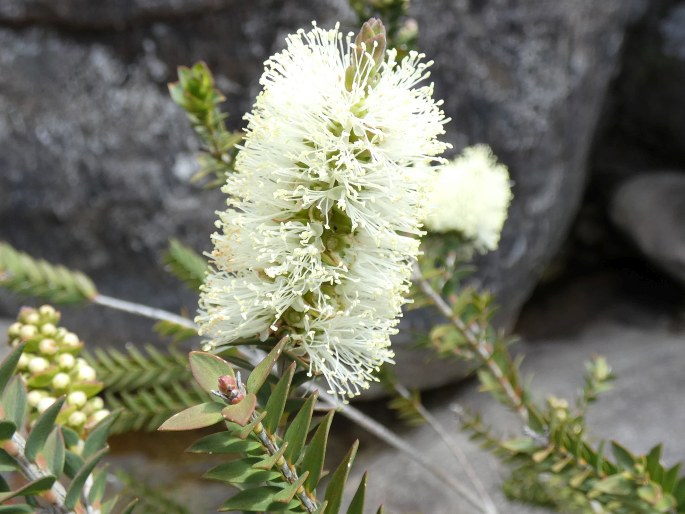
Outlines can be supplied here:
M599 404L590 407L588 427L598 439L616 439L635 452L646 452L664 443L667 465L685 459L685 441L672 427L685 423L682 402L685 366L685 333L670 333L663 326L632 328L602 321L571 339L548 340L522 345L527 354L523 370L533 373L532 389L540 399L549 394L572 399L582 385L583 362L594 354L607 357L617 375L614 388L604 393ZM445 393L433 410L443 426L453 433L454 442L464 452L485 484L501 513L543 514L550 511L510 503L503 497L501 481L507 469L479 449L461 432L450 405L459 404L483 413L485 421L500 433L516 437L518 420L476 384ZM428 427L405 436L406 442L428 461L463 484L468 480L455 458ZM394 450L369 449L362 452L353 467L350 490L353 493L361 473L369 472L367 505L385 504L389 512L431 514L471 514L474 509L404 455ZM472 488L471 488L472 489Z

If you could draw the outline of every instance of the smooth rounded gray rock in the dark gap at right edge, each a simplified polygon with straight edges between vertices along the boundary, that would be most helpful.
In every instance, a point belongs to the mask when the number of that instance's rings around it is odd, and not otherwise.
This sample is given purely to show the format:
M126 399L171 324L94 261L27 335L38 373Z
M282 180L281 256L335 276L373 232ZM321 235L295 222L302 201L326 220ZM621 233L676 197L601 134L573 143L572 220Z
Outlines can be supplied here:
M685 173L651 172L623 183L611 218L656 265L685 284Z

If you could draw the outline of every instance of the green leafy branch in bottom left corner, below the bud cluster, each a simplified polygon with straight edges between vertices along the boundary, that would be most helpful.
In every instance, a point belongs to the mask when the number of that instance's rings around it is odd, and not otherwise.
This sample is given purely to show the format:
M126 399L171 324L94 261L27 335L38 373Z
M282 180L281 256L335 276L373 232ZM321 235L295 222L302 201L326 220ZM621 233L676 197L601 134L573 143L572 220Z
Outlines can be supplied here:
M63 514L84 509L108 514L118 498L103 502L106 471L96 466L107 452L107 435L114 417L102 420L81 440L73 430L56 425L64 403L61 398L26 428L26 386L16 374L23 351L24 345L17 346L0 364L0 471L22 475L25 483L12 489L10 482L0 476L0 505L4 505L0 509ZM22 496L26 503L16 503ZM122 512L132 510L133 504L129 504Z

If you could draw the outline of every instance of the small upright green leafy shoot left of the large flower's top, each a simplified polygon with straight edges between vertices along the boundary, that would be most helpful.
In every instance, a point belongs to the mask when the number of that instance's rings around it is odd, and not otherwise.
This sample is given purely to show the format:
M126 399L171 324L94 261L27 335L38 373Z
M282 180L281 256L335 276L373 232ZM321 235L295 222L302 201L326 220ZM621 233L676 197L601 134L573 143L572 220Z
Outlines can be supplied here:
M207 187L218 187L226 181L226 174L233 172L236 145L243 135L226 129L227 114L218 105L226 100L214 86L214 77L203 62L191 68L178 68L178 82L169 84L171 98L182 107L193 129L202 141L200 171L191 179L209 179Z

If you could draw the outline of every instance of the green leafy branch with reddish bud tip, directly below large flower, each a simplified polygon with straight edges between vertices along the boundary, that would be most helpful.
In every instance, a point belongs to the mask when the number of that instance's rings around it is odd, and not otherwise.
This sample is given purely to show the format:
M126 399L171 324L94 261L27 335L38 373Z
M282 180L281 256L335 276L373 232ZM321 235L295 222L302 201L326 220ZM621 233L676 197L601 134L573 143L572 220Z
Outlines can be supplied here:
M240 458L220 464L206 477L234 485L239 492L221 510L244 512L309 512L337 514L355 443L331 474L323 500L317 488L323 477L328 431L333 412L313 420L316 394L309 395L292 420L282 426L291 394L296 363L292 363L273 386L266 404L257 405L257 394L267 383L271 369L282 355L287 339L281 340L242 384L231 365L220 357L190 354L190 367L210 401L196 405L167 420L160 430L190 430L225 422L226 430L206 436L189 451L198 453L238 453ZM317 424L318 422L318 424ZM310 428L314 435L307 442ZM348 514L363 513L366 476L350 504Z

